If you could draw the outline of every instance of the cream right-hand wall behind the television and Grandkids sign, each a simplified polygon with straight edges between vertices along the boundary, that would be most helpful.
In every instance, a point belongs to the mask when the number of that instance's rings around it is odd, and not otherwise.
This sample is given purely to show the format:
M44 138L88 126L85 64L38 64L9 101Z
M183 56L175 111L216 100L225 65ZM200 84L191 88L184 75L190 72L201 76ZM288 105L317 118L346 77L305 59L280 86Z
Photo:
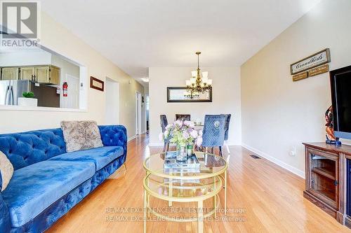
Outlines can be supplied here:
M350 9L350 0L322 1L241 66L243 145L300 176L301 143L325 140L329 73L294 83L289 65L324 48L331 70L350 65Z

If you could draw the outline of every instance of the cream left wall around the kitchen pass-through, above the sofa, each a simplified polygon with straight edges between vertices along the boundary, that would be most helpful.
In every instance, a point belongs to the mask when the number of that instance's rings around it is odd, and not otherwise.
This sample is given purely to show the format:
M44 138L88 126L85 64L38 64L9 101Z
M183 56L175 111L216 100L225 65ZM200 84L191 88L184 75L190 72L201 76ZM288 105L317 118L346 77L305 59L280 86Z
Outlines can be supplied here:
M135 91L143 93L144 87L46 13L41 15L41 43L46 48L86 66L86 83L89 83L90 76L103 81L105 77L117 80L121 87L119 122L126 126L128 138L134 136ZM86 111L12 111L1 108L0 133L59 127L61 120L96 120L98 124L105 124L105 92L86 88Z

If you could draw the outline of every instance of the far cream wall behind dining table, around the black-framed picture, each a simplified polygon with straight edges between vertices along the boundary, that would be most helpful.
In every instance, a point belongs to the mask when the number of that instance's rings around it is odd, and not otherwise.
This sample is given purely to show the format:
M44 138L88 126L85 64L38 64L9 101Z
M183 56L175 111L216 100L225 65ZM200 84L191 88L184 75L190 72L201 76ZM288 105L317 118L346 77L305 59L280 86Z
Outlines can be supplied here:
M167 103L167 87L185 86L194 67L150 67L150 143L159 145L161 132L159 115L166 114L173 122L176 113L190 113L192 119L206 114L231 113L229 143L241 145L240 69L239 67L202 68L213 79L213 102L211 103Z

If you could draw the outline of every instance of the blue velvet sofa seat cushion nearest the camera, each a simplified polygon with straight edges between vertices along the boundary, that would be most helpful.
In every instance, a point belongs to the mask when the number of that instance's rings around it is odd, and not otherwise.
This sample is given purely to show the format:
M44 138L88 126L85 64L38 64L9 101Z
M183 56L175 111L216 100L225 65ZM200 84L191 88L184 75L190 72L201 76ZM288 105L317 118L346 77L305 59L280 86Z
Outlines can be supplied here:
M91 162L43 161L18 169L1 193L20 227L95 174Z

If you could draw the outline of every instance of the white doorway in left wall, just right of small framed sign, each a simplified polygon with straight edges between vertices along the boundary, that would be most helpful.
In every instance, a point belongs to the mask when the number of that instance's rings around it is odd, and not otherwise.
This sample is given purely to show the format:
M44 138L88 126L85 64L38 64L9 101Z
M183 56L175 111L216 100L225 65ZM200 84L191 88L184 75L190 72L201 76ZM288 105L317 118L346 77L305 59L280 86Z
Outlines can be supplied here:
M107 125L119 124L119 83L106 77L106 106L105 123Z

